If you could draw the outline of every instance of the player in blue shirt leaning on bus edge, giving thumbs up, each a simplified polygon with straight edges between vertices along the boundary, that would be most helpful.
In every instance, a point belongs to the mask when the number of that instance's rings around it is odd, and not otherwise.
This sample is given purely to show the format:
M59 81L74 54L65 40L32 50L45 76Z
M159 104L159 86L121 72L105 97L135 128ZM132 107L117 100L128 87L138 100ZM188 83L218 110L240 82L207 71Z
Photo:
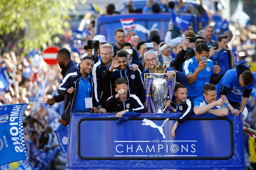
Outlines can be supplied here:
M196 115L211 113L215 116L227 116L229 109L223 97L217 97L216 87L208 83L203 87L203 96L194 100L194 113Z

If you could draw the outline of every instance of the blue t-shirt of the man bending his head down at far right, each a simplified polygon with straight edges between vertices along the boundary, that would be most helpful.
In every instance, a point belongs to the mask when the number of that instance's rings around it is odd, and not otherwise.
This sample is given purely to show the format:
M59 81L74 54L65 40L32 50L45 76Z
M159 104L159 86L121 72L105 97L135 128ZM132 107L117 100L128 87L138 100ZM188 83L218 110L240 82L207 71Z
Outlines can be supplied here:
M237 70L236 69L228 70L226 74L221 78L219 84L216 86L218 97L220 95L221 84L223 84L224 86L229 87L229 92L226 95L227 100L232 102L240 102L242 100L243 91L246 89L253 89L253 85L256 80L255 73L253 73L253 75L254 75L253 82L248 86L242 87L239 84Z

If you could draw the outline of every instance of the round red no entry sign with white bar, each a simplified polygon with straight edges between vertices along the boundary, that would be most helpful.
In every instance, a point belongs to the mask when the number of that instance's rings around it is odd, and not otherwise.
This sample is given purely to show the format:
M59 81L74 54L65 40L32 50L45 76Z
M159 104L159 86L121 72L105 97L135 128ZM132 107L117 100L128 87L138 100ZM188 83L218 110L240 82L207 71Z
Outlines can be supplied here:
M59 47L57 46L50 46L48 48L46 48L45 50L43 50L42 52L42 56L43 56L43 60L49 64L49 65L55 65L57 64L57 52L59 51Z

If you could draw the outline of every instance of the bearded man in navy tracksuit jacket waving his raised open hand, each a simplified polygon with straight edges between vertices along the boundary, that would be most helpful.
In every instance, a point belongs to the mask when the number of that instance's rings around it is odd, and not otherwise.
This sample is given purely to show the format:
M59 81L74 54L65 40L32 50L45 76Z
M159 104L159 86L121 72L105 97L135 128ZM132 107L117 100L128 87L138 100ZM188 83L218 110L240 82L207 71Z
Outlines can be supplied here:
M115 81L118 78L125 78L128 81L128 90L130 94L139 97L142 103L145 103L145 86L141 78L141 71L133 71L127 63L129 53L126 50L120 50L117 57L112 60L111 66L105 71L102 80Z

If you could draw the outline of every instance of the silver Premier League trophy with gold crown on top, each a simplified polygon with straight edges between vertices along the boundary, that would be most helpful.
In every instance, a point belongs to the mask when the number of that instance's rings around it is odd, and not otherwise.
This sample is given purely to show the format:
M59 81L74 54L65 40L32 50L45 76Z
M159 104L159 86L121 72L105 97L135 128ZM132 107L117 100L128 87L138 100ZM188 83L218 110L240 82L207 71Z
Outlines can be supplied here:
M158 66L155 66L155 63L153 64L155 79L151 85L152 97L158 108L157 113L163 113L162 109L168 92L168 83L165 79L166 63L164 63L163 66L161 66L160 62L158 63Z

